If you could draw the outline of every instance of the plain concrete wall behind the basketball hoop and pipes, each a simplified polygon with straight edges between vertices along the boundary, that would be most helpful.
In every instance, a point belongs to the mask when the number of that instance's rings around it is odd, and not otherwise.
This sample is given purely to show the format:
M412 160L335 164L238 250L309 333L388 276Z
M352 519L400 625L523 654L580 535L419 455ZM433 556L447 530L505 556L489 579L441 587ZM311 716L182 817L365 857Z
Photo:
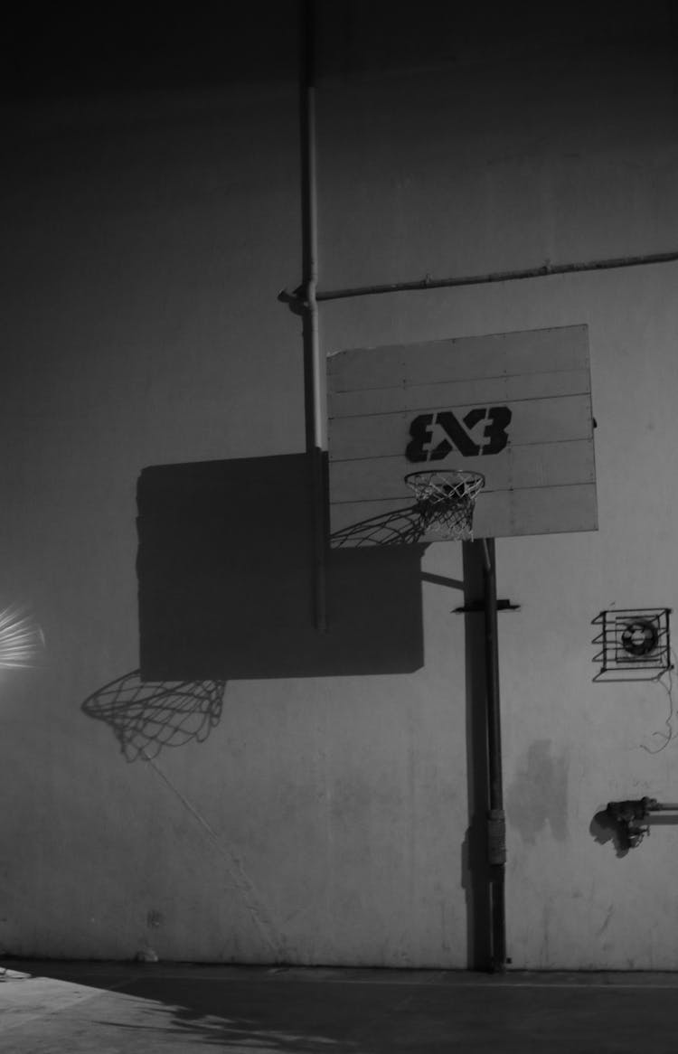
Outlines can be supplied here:
M370 65L349 30L322 36L326 59L344 40L318 87L324 288L678 248L675 67L652 35L441 31L414 61L401 33ZM15 955L473 961L460 546L424 557L412 672L233 680L202 742L150 760L80 708L138 665L141 469L303 449L299 324L276 301L301 277L295 106L279 77L7 111L0 605L46 641L1 674ZM609 799L678 790L675 743L652 753L666 690L593 684L589 643L601 609L678 587L677 271L322 310L327 352L589 327L600 530L497 547L521 605L500 617L516 967L677 965L678 833L617 857L589 829Z

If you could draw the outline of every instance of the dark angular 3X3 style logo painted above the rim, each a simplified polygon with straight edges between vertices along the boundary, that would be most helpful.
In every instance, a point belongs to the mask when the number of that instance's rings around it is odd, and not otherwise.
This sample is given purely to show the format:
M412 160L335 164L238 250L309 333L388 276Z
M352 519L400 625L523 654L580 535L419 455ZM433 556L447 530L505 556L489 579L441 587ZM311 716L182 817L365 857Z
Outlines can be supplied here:
M405 456L410 462L442 461L452 450L458 450L462 457L474 457L478 454L498 454L508 443L507 428L512 413L507 406L476 407L464 414L461 422L451 410L438 410L435 413L420 413L410 427L410 442ZM485 421L481 443L477 443L470 432ZM433 429L444 433L443 438L434 441ZM434 446L431 444L434 443Z

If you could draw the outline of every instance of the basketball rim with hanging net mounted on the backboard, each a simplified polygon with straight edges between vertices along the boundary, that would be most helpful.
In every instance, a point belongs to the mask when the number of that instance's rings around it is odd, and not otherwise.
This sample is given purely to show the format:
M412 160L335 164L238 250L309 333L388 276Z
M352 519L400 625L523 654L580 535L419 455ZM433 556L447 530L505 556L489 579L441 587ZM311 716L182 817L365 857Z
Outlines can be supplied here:
M414 508L423 532L452 542L472 542L476 499L485 485L482 472L410 472L405 483L417 497Z

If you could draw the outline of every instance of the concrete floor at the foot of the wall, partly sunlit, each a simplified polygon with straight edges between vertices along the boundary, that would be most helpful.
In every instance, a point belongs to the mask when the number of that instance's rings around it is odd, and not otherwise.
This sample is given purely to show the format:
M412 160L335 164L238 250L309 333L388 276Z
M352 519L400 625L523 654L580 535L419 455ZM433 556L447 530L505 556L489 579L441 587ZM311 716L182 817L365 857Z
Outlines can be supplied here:
M2 1054L663 1054L678 974L0 961Z

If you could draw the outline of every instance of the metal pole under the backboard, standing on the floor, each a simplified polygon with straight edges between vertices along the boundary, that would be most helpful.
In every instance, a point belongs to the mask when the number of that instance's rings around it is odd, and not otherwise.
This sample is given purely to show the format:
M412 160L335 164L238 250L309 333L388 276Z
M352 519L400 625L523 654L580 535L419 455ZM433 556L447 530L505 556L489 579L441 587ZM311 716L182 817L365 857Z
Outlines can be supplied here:
M506 963L506 822L502 779L501 710L499 697L499 640L497 619L497 562L495 540L484 546L485 664L487 670L487 773L489 812L487 851L489 862L491 959L490 969L501 973Z

